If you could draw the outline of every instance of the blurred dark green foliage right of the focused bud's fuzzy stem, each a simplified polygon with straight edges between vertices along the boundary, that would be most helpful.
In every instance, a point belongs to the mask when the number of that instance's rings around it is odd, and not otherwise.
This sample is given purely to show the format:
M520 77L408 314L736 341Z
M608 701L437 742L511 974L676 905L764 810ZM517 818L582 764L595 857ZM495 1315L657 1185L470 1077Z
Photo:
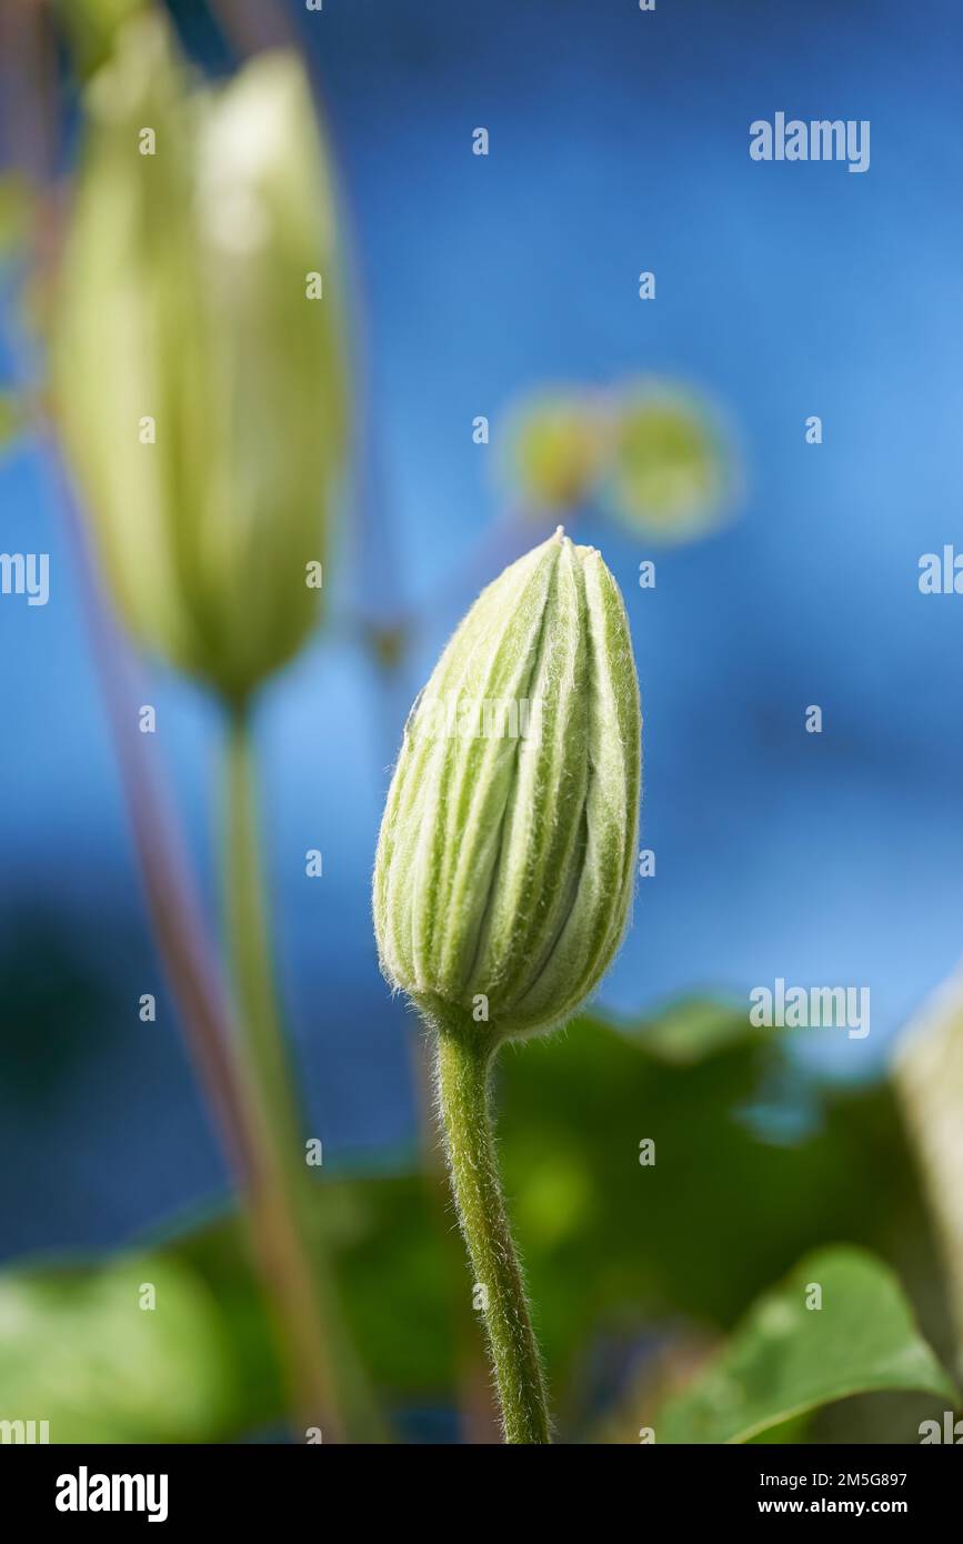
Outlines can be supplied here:
M792 1141L748 1118L786 1056L787 1038L725 1010L668 1031L583 1017L506 1048L500 1152L556 1383L602 1326L684 1314L730 1328L806 1251L847 1238L884 1252L918 1210L884 1087L809 1090L795 1073L813 1109Z

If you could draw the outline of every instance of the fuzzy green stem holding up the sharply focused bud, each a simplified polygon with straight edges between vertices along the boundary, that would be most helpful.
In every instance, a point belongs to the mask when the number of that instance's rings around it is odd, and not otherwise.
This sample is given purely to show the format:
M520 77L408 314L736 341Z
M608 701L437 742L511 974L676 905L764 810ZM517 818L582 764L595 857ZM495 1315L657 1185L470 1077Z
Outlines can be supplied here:
M458 1221L477 1286L498 1387L506 1442L551 1442L548 1396L505 1210L488 1109L491 1048L438 1033L438 1106Z

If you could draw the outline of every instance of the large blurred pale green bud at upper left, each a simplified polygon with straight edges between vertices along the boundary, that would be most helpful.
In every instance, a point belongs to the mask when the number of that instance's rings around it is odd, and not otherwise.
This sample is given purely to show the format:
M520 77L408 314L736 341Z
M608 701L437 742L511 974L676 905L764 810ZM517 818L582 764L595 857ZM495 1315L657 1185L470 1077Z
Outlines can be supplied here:
M273 52L191 90L151 14L117 32L85 107L54 406L133 633L241 701L318 618L346 452L309 85Z

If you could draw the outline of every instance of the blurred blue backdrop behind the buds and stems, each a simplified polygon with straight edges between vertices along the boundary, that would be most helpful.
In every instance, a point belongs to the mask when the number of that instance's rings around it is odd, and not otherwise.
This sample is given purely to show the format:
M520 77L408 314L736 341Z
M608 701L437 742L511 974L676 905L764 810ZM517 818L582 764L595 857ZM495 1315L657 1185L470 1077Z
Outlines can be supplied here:
M776 976L869 985L869 1039L836 1033L815 1055L843 1073L878 1064L963 946L963 599L917 587L921 553L963 548L963 14L949 0L290 9L355 221L392 598L423 624L412 692L452 621L446 576L500 513L512 401L647 372L705 391L742 457L739 519L674 551L580 528L627 596L657 855L600 1001L745 997ZM869 119L870 170L752 162L748 124L779 110ZM475 125L488 159L471 154ZM656 303L637 300L640 269ZM809 414L821 446L804 443ZM136 1016L159 967L35 448L0 465L0 522L5 551L51 553L46 608L0 599L0 946L39 908L116 1001L82 1030L63 1002L63 1044L28 1096L0 1078L0 1175L15 1175L0 1248L17 1254L117 1241L210 1195L221 1166L171 1011ZM640 591L651 556L657 588ZM372 571L343 567L343 608ZM213 903L216 713L164 673L145 696ZM823 735L802 729L810 703ZM259 733L312 1126L332 1163L390 1161L412 1138L409 1019L369 922L387 766L364 659L319 639ZM304 877L312 846L321 882ZM3 1013L11 1044L35 1033Z

